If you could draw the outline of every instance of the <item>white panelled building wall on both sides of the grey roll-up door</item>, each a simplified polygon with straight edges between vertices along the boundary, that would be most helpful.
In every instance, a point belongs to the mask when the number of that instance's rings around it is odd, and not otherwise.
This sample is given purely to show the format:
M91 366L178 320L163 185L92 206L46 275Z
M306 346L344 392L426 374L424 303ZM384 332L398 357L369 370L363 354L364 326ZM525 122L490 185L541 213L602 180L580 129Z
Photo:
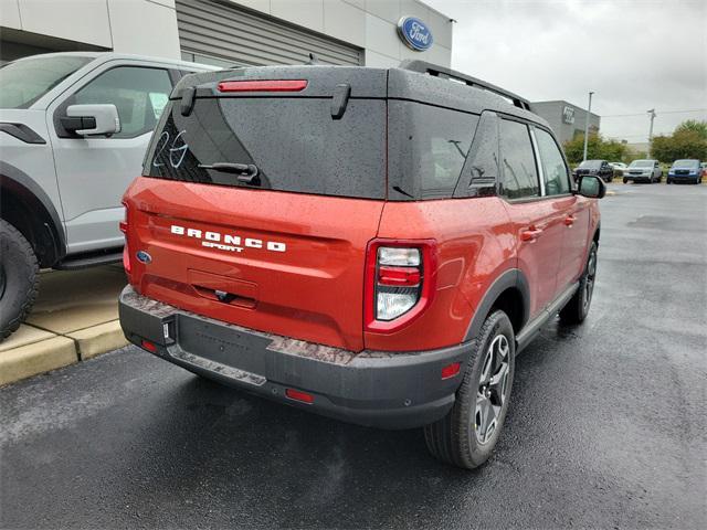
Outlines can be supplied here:
M403 59L451 64L452 22L418 0L229 0L366 50L368 66ZM398 36L401 17L431 29L431 50L415 52ZM175 0L0 0L0 25L112 49L180 57Z

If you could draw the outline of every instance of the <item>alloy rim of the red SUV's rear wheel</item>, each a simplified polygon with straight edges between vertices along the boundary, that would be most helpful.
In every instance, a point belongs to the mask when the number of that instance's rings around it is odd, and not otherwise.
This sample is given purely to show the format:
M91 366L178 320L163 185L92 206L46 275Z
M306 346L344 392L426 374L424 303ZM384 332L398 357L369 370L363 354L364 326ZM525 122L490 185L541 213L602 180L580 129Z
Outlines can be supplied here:
M496 336L486 350L474 410L474 433L481 445L488 443L496 432L508 398L509 354L510 346L505 335Z

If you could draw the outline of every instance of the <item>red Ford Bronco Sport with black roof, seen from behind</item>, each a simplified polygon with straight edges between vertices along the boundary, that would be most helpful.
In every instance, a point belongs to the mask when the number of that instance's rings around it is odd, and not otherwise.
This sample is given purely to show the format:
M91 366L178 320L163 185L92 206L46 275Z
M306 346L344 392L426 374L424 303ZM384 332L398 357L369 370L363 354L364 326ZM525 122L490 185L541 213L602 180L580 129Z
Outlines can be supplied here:
M184 77L125 194L135 344L484 463L515 356L597 267L593 176L525 99L421 62Z

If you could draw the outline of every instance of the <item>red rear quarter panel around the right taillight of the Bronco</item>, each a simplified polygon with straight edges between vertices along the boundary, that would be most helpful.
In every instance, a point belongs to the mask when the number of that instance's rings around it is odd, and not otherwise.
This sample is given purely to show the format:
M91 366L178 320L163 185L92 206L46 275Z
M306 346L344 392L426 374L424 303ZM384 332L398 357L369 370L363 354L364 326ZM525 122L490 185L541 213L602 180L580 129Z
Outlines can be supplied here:
M516 266L515 234L498 198L388 202L378 237L435 240L436 293L409 326L392 333L367 331L367 349L415 351L462 342L490 284Z

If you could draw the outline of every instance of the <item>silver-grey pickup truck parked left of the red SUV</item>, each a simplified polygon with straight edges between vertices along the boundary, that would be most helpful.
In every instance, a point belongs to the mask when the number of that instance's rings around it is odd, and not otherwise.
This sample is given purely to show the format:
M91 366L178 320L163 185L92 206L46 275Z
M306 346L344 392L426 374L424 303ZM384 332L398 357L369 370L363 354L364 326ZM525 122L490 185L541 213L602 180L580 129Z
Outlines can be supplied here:
M218 70L116 53L34 55L0 70L0 340L38 294L38 269L119 261L120 197L173 85Z

